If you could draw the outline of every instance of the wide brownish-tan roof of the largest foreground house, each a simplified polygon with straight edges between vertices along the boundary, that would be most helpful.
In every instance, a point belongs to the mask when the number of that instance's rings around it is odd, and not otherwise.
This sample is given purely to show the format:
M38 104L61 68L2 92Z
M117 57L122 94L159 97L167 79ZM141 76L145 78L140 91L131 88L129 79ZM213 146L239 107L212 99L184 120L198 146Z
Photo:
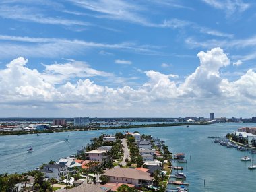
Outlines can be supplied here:
M105 170L104 174L106 176L113 177L123 177L123 178L131 178L131 179L143 179L152 181L154 177L150 176L150 173L143 172L141 170L136 170L133 168L113 168Z

